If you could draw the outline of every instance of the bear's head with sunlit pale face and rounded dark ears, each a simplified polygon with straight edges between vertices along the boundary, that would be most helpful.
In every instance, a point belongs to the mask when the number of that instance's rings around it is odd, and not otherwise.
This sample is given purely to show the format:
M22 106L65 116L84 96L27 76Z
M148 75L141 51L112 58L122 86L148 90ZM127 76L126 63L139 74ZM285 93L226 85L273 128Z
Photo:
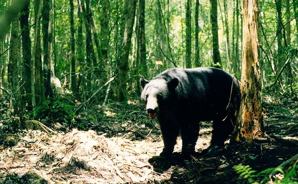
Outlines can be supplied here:
M164 78L155 77L148 81L144 77L141 77L140 83L143 88L141 100L146 105L149 118L153 119L157 116L159 111L170 106L171 95L174 94L179 80L172 78L167 81Z

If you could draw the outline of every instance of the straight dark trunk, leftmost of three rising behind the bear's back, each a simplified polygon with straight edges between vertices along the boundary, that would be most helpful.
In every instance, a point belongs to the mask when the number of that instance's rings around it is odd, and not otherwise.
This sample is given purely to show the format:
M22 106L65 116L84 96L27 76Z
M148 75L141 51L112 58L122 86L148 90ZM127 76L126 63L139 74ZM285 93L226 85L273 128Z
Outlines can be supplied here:
M186 67L191 68L191 0L186 1Z

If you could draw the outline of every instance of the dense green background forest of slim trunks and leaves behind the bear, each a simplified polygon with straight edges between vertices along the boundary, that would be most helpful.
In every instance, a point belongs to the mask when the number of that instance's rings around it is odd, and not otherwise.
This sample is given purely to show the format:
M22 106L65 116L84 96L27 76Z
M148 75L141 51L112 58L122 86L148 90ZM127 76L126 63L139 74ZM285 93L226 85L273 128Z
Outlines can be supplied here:
M242 4L213 2L28 0L0 40L0 93L22 112L58 93L88 99L99 87L98 100L127 102L140 76L170 67L216 66L240 78ZM262 84L296 94L298 2L282 2L259 2ZM9 4L1 1L2 17Z

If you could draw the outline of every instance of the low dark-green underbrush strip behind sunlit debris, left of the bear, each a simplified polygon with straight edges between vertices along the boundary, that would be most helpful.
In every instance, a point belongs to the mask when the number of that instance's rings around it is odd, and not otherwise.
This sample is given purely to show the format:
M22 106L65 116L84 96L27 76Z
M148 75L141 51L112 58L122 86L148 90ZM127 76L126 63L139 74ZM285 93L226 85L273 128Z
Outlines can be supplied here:
M132 139L144 139L149 134L159 135L157 120L150 120L144 104L131 99L127 104L109 100L105 106L99 101L85 104L72 95L58 97L55 101L45 101L33 111L14 112L9 103L1 98L0 108L0 142L13 146L18 133L26 129L42 129L45 125L57 131L68 132L92 129L107 137L126 136Z

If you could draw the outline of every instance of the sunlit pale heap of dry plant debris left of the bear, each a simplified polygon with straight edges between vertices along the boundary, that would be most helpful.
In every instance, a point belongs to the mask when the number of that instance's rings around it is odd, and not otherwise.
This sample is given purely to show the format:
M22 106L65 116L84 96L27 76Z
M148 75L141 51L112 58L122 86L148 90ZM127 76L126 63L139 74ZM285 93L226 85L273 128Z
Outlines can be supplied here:
M16 146L0 152L0 173L14 172L22 176L32 171L48 183L116 184L165 180L166 175L154 172L148 163L162 146L156 147L156 143L148 141L107 138L93 130L73 129L56 135L29 130Z

